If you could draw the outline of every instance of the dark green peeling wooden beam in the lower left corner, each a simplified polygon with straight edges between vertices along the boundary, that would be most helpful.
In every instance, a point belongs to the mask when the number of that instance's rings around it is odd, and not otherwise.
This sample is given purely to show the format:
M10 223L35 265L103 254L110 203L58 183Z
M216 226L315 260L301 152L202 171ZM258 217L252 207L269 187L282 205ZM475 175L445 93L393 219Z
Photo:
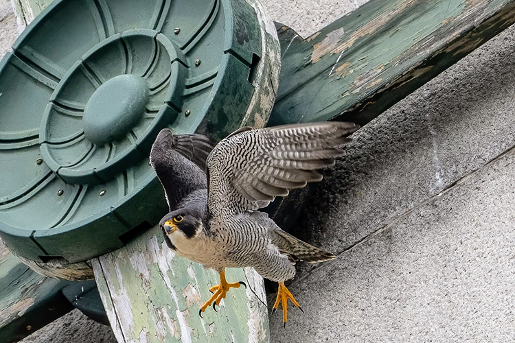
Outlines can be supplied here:
M0 239L0 342L17 342L71 311L66 285L20 263Z

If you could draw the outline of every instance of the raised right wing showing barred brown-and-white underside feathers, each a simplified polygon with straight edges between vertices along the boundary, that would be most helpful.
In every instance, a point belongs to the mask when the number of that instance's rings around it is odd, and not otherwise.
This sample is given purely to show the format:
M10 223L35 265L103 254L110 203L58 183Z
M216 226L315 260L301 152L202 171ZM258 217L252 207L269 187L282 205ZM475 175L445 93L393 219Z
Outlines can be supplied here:
M341 145L359 128L325 122L244 130L222 140L207 158L211 215L235 215L267 206L290 189L320 181Z

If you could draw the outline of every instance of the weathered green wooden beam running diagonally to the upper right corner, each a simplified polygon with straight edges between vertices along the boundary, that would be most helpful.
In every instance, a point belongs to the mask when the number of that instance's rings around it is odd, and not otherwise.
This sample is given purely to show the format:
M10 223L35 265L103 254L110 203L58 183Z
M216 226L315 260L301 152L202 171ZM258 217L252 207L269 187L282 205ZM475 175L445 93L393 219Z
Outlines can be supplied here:
M363 125L514 22L514 0L371 0L307 39L282 27L268 126Z

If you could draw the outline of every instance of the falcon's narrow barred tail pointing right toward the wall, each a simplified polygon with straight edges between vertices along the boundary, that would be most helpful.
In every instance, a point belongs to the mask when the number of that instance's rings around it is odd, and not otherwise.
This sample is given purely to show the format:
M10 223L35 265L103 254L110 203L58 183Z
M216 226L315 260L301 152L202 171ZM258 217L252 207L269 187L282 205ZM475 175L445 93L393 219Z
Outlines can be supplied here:
M275 239L273 244L279 247L281 252L291 255L295 259L306 261L309 263L318 263L323 261L330 261L334 259L334 255L330 252L307 244L305 241L293 237L284 230L274 230Z

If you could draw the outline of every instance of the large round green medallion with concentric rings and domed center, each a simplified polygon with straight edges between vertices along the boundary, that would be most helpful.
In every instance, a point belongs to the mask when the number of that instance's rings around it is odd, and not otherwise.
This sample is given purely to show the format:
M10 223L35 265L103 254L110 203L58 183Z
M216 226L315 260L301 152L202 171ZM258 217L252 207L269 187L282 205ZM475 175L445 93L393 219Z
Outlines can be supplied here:
M279 43L257 12L244 0L51 3L0 62L10 250L44 273L119 248L167 211L148 164L159 130L221 139L264 126Z

